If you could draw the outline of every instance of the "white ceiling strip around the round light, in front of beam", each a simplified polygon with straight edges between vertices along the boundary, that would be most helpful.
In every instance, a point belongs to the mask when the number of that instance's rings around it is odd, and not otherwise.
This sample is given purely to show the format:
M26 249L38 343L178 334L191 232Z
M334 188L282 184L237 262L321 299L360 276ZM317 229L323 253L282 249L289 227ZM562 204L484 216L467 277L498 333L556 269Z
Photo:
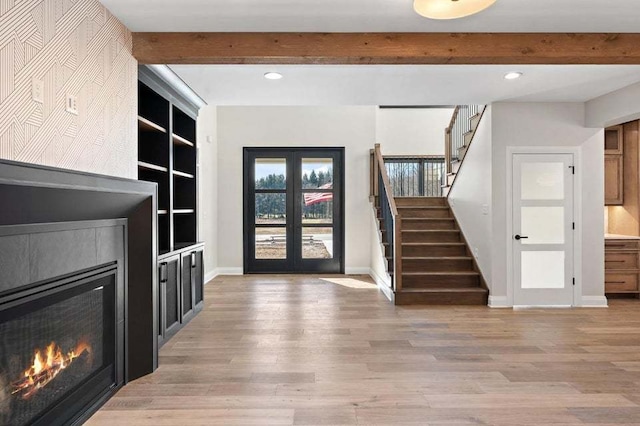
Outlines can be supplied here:
M101 0L132 31L638 32L639 0L498 0L455 21L413 0Z

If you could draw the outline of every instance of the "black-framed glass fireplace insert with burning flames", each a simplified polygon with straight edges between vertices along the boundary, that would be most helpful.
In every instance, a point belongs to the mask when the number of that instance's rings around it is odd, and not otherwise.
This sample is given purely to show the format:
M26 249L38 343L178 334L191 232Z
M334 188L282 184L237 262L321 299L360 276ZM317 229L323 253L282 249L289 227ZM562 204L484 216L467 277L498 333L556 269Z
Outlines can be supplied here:
M66 424L116 386L110 265L0 297L0 424Z

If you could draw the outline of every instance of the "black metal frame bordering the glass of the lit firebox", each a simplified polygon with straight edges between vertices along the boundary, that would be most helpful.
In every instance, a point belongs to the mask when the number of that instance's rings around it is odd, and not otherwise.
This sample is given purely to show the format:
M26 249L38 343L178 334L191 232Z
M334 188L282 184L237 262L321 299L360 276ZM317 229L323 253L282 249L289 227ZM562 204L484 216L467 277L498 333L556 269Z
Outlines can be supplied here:
M117 357L124 353L125 330L124 327L118 327L118 303L119 297L124 294L118 289L118 264L110 262L93 268L87 268L77 273L63 275L61 277L43 280L25 287L19 287L13 291L0 293L0 319L10 312L18 310L18 308L34 302L47 302L48 304L56 303L59 297L66 293L82 292L83 288L89 284L96 287L97 280L111 278L113 280L113 294L111 295L113 303L113 322L110 324L113 336L113 349L111 365L103 367L96 371L91 377L78 385L78 388L72 390L63 399L52 405L48 411L42 413L41 416L34 419L33 426L49 426L62 424L81 424L86 421L89 416L104 402L113 396L119 385L122 384L118 377L121 372L118 371ZM80 294L78 293L78 294ZM56 300L47 300L52 297ZM60 299L64 300L64 299ZM87 393L87 391L99 390L98 393Z

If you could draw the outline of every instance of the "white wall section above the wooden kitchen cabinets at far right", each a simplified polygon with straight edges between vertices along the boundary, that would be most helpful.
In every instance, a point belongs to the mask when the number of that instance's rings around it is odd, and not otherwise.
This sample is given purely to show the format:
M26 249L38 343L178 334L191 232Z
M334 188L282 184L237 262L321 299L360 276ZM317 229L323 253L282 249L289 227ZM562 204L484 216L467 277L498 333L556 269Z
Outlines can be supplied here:
M587 102L585 116L589 127L609 127L639 119L640 83Z

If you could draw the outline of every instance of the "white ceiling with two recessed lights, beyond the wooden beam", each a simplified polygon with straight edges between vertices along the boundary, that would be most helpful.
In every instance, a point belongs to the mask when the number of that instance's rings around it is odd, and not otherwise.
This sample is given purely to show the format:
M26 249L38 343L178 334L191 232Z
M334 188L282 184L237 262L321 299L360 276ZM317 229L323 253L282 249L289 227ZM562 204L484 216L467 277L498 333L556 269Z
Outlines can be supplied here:
M584 102L640 81L614 65L172 65L210 105L454 105ZM503 78L522 71L518 80ZM266 80L279 71L282 80Z

